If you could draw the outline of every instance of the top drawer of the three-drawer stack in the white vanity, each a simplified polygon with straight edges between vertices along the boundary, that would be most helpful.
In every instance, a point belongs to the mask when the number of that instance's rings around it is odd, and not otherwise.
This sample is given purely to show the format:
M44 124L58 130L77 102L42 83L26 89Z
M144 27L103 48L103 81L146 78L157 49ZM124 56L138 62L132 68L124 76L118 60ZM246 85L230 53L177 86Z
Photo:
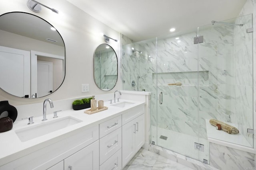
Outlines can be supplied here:
M122 126L122 116L100 123L100 138Z

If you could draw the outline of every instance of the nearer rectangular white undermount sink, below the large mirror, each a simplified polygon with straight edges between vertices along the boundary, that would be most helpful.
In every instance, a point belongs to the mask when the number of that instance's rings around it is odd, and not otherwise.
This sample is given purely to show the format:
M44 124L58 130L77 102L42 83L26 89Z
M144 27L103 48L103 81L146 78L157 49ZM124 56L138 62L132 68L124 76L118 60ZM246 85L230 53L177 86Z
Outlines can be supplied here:
M39 125L31 125L30 127L18 129L15 133L20 138L20 141L25 142L80 122L82 122L82 120L68 116L52 121L45 121Z

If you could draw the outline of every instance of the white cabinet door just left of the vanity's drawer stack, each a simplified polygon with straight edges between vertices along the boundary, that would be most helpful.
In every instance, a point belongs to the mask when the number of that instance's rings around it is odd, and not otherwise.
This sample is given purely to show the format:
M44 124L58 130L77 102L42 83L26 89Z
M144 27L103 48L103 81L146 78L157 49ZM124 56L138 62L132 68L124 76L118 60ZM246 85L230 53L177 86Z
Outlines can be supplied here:
M99 141L64 159L64 170L99 170Z

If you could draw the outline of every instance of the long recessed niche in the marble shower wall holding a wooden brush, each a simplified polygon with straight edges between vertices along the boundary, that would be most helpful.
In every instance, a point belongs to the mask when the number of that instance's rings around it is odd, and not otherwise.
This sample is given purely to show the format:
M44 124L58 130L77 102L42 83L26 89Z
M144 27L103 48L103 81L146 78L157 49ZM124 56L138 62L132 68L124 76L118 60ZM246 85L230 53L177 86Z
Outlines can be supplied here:
M160 86L180 82L182 86L209 86L209 71L184 71L153 73L153 80L158 80Z

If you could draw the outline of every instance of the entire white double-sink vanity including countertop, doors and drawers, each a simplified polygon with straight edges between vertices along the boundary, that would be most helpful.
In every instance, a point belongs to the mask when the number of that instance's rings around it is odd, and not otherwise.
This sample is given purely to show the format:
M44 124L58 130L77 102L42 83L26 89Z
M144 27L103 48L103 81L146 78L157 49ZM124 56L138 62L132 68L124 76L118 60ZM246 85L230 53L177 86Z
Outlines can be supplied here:
M1 133L0 170L121 170L145 142L145 102L105 106L92 115L66 110L29 125L16 121Z

